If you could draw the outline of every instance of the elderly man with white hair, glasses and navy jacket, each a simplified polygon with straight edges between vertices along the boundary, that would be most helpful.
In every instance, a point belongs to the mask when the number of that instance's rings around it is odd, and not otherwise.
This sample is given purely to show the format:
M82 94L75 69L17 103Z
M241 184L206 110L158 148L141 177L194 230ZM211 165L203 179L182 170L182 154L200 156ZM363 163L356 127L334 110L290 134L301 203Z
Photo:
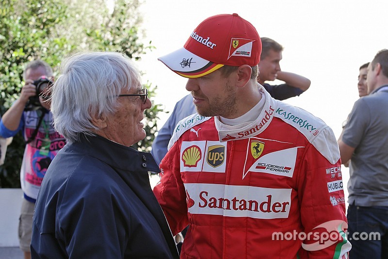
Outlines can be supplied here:
M32 258L178 258L149 184L158 165L130 148L146 137L151 107L138 69L117 52L79 53L52 88L54 126L67 144L37 198Z

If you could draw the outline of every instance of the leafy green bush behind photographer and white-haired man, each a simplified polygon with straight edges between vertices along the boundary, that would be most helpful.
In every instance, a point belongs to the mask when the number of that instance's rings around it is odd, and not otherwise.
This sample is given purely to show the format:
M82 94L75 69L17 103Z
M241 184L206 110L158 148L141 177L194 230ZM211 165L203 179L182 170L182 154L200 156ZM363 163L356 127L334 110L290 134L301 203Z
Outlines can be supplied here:
M24 66L37 58L54 69L63 57L79 51L117 51L133 60L153 47L142 42L138 0L0 0L0 113L7 111L23 86ZM147 82L152 97L156 86ZM160 105L146 110L146 139L134 148L150 151ZM0 188L20 188L25 142L18 133L0 166Z

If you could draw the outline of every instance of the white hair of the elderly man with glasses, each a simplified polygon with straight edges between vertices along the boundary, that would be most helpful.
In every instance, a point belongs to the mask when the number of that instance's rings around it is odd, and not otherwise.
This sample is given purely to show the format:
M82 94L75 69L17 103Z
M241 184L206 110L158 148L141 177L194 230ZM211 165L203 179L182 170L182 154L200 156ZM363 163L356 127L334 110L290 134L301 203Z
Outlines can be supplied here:
M91 115L112 115L117 95L141 84L134 63L118 52L81 52L62 61L52 86L51 112L55 130L68 142L94 135Z

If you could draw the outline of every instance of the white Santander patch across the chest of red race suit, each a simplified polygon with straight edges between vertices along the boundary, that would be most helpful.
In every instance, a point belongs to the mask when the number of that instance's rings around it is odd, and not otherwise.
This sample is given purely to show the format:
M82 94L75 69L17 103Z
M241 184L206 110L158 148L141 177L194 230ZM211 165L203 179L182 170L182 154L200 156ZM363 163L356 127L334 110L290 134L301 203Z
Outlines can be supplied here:
M291 189L185 183L188 211L192 214L288 218Z

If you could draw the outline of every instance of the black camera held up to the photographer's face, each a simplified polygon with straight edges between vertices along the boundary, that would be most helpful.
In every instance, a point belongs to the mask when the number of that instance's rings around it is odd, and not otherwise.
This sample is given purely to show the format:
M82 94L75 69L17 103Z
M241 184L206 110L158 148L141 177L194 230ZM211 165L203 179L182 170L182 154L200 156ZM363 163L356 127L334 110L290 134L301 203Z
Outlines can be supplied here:
M39 101L39 97L47 100L51 96L51 86L54 84L52 80L46 76L40 77L38 80L33 81L32 85L36 87L36 94L31 96L24 108L25 111L33 111L42 107Z

